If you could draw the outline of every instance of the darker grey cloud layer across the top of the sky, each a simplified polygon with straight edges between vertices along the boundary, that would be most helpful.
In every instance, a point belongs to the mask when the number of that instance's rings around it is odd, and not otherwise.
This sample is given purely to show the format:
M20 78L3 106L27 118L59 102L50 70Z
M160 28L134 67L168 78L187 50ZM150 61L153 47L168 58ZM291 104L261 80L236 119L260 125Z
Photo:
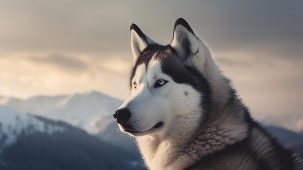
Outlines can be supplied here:
M156 42L168 44L175 20L183 17L215 52L275 51L281 54L278 57L288 58L300 58L303 53L300 0L117 3L2 1L0 46L14 52L131 54L131 23Z

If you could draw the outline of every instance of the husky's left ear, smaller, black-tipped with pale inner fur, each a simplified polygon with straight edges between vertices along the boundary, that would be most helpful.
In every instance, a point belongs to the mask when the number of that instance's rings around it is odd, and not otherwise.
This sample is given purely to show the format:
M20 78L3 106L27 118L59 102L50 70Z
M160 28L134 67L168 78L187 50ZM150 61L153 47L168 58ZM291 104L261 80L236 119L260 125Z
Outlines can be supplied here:
M141 52L149 45L156 44L151 38L146 36L136 24L132 24L130 27L130 40L134 54L134 63L140 56Z

